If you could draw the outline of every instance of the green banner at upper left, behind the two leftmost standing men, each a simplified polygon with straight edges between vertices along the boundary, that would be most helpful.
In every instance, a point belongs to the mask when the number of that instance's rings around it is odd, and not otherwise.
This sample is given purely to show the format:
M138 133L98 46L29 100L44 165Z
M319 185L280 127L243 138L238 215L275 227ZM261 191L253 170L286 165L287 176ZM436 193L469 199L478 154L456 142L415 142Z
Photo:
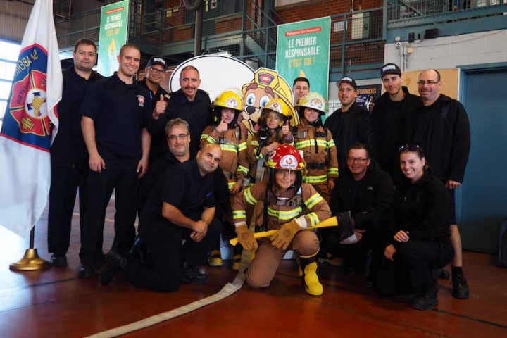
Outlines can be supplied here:
M127 43L129 2L102 6L98 70L104 76L111 76L118 70L116 57L121 46Z

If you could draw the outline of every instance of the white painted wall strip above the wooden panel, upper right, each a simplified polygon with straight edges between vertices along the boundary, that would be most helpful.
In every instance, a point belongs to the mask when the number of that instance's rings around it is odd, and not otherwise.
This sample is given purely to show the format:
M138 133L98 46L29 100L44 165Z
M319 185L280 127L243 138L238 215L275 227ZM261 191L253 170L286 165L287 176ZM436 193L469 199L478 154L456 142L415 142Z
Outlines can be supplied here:
M494 30L451 37L425 39L409 44L413 53L408 56L407 67L402 70L425 68L456 68L458 65L475 65L507 61L507 30ZM400 49L386 44L384 59L401 65Z

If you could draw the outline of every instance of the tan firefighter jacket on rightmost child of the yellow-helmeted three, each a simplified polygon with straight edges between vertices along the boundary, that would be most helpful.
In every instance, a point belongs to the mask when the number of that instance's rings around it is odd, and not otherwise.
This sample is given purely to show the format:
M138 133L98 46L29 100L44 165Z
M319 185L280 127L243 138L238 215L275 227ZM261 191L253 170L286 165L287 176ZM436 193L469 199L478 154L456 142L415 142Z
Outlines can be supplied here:
M329 129L313 126L304 118L294 127L294 146L303 151L306 163L304 182L318 185L338 177L337 148Z

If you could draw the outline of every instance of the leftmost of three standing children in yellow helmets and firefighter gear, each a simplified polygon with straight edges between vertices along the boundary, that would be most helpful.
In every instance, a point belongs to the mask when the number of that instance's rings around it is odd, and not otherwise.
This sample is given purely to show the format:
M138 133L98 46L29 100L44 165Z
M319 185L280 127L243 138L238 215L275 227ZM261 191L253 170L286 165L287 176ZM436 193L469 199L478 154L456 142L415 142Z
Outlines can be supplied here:
M246 161L246 132L242 131L238 123L239 113L242 110L241 91L235 88L225 90L213 102L215 124L206 127L201 135L201 148L208 143L215 143L220 145L220 149L222 149L220 168L229 184L231 204L234 196L242 188L249 166ZM225 227L232 227L231 204L224 211ZM220 256L220 243L217 244L215 250L211 251L208 263L211 266L223 265Z

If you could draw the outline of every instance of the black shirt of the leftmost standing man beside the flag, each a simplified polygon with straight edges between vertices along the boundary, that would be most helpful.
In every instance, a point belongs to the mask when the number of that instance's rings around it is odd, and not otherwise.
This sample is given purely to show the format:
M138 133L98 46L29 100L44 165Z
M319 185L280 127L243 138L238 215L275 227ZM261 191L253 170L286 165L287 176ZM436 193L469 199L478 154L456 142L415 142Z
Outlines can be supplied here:
M84 147L81 131L81 104L89 87L102 78L92 71L88 79L75 72L74 65L63 70L62 99L58 102L58 134L51 144L51 164L73 167L77 164L75 147Z

